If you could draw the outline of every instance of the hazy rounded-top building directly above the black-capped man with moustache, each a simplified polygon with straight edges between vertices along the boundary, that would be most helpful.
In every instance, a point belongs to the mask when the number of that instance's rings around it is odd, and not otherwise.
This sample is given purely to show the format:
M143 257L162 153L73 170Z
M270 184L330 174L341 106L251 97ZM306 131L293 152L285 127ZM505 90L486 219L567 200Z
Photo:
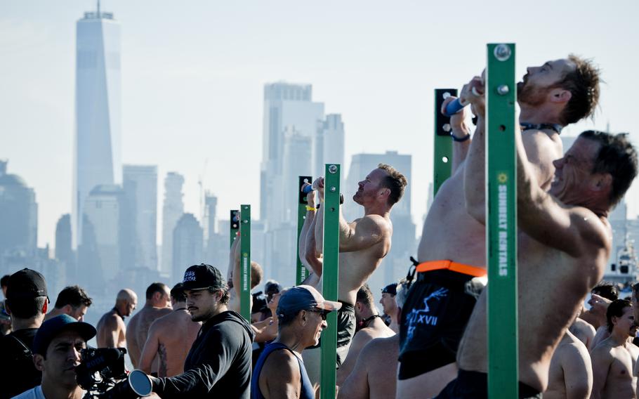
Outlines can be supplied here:
M193 214L183 214L173 229L173 281L183 280L184 270L204 263L204 231Z

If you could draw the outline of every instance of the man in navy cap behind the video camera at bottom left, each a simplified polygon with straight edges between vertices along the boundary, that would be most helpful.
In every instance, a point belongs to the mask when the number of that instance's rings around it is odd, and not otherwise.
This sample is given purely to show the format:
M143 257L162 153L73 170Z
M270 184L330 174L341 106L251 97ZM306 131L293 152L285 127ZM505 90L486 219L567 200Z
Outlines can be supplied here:
M42 383L14 399L81 399L84 391L76 381L80 351L95 336L92 325L70 315L59 315L42 323L33 340L33 362L42 372Z

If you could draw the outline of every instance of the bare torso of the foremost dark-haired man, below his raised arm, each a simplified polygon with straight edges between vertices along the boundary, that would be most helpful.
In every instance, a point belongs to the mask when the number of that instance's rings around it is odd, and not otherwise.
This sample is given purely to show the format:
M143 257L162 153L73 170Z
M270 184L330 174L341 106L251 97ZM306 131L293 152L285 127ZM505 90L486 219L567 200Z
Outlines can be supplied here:
M600 220L610 233L607 220ZM521 231L518 234L519 341L525 343L520 345L520 381L540 392L548 386L553 351L603 274L610 240L604 247L593 244L589 248L574 258ZM477 343L487 342L488 289L477 301L459 345L457 362L467 371L487 372L487 348Z

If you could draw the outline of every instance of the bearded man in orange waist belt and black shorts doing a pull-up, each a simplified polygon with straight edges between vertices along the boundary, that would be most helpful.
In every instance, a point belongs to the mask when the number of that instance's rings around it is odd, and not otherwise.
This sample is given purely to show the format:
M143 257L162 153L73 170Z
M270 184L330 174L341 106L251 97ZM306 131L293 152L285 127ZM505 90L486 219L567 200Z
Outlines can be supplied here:
M562 156L562 127L591 115L598 97L598 70L587 60L570 55L527 69L518 84L519 120L525 155L541 190L550 187L553 161ZM472 141L466 119L463 112L451 118L454 168L423 225L416 282L402 312L398 398L435 395L454 379L459 341L486 276L485 225L470 216L464 199ZM475 136L484 129L477 122ZM484 202L478 207L483 211Z

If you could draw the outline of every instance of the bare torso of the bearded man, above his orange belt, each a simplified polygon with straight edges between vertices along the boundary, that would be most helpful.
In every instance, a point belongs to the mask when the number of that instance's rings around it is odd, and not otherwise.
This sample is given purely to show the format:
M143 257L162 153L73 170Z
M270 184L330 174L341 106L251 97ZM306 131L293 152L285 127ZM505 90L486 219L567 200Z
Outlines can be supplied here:
M557 133L525 131L524 147L538 174L540 187L550 187L554 167L552 161L562 155L562 145ZM485 268L486 226L466 211L463 176L466 163L444 181L424 221L421 240L417 249L420 262L451 260L470 266Z

